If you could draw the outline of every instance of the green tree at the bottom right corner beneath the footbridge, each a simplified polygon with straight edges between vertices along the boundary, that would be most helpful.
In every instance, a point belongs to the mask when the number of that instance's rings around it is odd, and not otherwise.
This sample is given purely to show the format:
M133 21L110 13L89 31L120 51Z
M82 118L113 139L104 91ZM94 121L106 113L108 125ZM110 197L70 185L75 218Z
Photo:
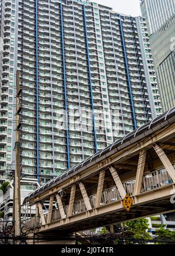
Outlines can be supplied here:
M164 229L162 225L162 227L156 230L156 240L162 240L156 242L156 244L166 244L170 243L170 241L175 244L175 231L171 231L169 228Z

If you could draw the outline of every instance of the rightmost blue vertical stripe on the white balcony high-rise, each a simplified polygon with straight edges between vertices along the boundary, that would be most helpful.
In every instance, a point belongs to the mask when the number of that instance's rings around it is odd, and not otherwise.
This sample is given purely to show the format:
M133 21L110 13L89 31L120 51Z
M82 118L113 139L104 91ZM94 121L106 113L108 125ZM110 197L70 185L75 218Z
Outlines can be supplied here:
M137 125L136 125L134 100L133 100L133 96L132 96L131 81L130 81L130 77L129 77L127 50L126 50L126 47L125 47L125 39L124 39L124 33L123 33L123 29L122 29L121 15L120 15L120 20L119 20L119 26L120 26L120 32L121 32L122 49L123 49L123 52L124 52L125 70L126 70L126 73L127 73L128 93L129 93L129 100L130 100L130 104L131 104L132 122L133 122L134 129L136 129Z

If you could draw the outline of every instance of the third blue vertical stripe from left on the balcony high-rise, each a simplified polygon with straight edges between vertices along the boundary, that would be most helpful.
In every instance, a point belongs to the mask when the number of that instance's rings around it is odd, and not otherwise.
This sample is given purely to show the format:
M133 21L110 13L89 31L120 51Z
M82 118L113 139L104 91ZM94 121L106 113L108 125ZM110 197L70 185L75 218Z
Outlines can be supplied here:
M95 152L97 152L97 135L96 135L96 127L95 127L95 113L94 113L94 107L93 107L93 91L92 91L92 81L91 81L91 73L90 73L90 57L89 57L89 45L88 45L88 30L87 30L87 26L86 26L85 4L83 4L83 15L84 15L84 26L85 26L86 52L87 52L87 61L88 61L90 103L91 103L91 108L92 108L92 119L93 119L94 144L95 144Z

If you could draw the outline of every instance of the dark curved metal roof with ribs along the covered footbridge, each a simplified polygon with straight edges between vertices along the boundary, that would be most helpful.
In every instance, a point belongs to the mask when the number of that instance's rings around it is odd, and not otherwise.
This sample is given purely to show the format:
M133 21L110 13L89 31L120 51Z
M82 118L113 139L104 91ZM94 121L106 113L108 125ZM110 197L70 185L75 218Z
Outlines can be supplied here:
M171 117L175 117L175 107L171 108L169 111L165 112L164 114L160 115L159 117L154 118L152 121L142 125L135 131L130 132L129 134L125 135L123 138L114 141L113 144L106 146L106 148L102 149L101 151L98 151L92 156L89 156L89 158L85 159L85 161L82 161L78 163L78 165L75 165L71 169L65 170L64 173L61 175L57 176L54 179L51 179L44 185L38 187L36 190L31 192L25 199L24 202L29 199L30 197L34 197L37 193L41 193L43 190L48 190L51 185L54 183L57 183L59 180L67 177L71 173L74 173L76 170L81 169L84 165L87 165L88 163L94 161L97 158L100 158L100 156L105 155L107 152L110 152L112 149L117 148L118 146L124 144L125 142L130 141L131 139L134 139L138 137L139 135L143 134L143 132L148 131L149 129L152 129L153 127L156 127L158 124L162 124L164 121L166 121L166 124L162 125L163 127L169 124L169 120ZM173 119L173 122L175 122L175 118ZM170 121L172 123L172 121ZM127 146L127 145L126 145ZM56 184L55 184L56 185Z

